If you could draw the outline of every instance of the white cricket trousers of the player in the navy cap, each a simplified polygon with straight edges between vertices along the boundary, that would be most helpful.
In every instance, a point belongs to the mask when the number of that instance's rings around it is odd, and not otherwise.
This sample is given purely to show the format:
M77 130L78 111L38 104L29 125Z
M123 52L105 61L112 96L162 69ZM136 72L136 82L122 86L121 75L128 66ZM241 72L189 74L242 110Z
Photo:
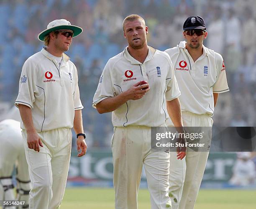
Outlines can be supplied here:
M184 127L212 127L209 115L182 112ZM186 157L177 160L176 152L170 152L169 196L173 209L193 209L200 189L209 152L188 151Z

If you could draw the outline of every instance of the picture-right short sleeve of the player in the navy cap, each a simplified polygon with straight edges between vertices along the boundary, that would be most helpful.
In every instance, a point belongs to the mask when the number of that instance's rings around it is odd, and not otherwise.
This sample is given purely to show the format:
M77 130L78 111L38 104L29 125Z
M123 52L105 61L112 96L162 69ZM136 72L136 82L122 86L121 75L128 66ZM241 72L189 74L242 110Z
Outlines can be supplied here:
M219 56L220 58L215 58L218 59L216 64L218 70L218 78L217 82L212 87L213 93L223 93L229 91L224 60L221 55Z

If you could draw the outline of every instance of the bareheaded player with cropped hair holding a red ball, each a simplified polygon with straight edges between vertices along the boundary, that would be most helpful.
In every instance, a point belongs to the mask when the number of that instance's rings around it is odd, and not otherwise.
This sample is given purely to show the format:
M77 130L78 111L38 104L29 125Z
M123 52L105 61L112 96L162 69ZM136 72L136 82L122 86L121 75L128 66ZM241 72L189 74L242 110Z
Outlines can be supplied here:
M151 208L171 208L170 155L151 151L151 127L166 126L167 111L174 124L182 126L172 61L166 53L147 45L148 27L139 15L125 18L123 32L128 47L109 59L92 104L101 114L112 112L115 208L138 208L143 164ZM148 84L140 85L140 81ZM179 158L184 155L180 153Z

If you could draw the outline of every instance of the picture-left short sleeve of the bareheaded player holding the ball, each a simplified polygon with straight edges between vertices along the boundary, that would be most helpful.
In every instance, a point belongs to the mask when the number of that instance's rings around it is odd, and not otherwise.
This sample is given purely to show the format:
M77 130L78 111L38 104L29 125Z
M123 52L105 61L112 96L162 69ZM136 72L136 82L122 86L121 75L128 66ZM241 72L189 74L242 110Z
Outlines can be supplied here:
M113 84L110 76L110 63L106 64L102 74L100 76L100 81L97 90L93 97L92 107L96 108L96 104L101 102L103 99L108 97L114 97Z

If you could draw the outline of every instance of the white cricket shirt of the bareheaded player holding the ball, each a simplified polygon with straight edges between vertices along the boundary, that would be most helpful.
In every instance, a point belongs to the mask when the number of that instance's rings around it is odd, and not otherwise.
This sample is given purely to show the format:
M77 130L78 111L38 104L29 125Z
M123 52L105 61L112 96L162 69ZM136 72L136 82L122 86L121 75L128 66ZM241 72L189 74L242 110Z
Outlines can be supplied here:
M108 60L95 92L92 106L108 97L115 97L137 82L146 80L150 90L138 100L128 100L112 112L113 126L159 126L166 122L166 100L180 95L168 54L148 46L148 56L143 64L127 50Z

